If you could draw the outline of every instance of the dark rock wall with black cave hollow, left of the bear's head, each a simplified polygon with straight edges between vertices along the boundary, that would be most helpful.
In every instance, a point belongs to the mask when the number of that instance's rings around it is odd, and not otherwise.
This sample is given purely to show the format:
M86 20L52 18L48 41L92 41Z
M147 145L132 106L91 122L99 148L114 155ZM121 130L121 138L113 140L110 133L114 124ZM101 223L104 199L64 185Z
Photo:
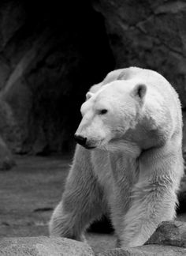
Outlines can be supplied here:
M0 4L0 134L13 152L72 149L80 104L113 69L104 21L90 2Z

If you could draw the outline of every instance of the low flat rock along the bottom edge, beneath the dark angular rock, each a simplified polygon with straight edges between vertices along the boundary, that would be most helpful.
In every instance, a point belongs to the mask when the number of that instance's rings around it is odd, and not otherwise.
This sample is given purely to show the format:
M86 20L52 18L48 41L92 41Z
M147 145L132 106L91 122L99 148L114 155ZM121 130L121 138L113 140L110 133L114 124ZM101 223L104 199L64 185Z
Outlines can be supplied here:
M186 249L162 245L146 245L142 247L109 250L96 256L182 256Z

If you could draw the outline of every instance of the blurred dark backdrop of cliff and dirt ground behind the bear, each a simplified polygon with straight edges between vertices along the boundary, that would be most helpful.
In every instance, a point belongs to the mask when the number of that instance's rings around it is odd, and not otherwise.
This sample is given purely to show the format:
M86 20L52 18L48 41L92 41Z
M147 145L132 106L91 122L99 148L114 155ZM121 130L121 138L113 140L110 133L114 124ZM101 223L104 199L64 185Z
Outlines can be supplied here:
M186 2L176 0L0 2L0 235L47 234L80 105L110 70L162 73L185 122L185 24ZM181 190L184 213L184 181Z

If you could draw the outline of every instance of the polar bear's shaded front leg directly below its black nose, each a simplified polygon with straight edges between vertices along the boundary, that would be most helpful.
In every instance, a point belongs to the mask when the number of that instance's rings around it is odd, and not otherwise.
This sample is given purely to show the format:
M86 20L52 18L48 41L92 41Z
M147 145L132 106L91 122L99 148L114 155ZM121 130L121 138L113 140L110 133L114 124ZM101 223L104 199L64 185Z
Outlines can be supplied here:
M105 210L102 190L91 171L90 152L77 145L62 200L51 216L50 235L82 240L84 230Z

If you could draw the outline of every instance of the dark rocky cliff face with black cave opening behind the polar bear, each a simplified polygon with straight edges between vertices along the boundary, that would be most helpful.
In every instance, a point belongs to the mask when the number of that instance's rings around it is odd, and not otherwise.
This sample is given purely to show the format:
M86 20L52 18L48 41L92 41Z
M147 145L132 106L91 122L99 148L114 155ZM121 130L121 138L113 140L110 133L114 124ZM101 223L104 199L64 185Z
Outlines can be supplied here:
M0 134L9 148L72 149L87 88L114 68L157 70L185 108L185 19L176 0L2 1Z

